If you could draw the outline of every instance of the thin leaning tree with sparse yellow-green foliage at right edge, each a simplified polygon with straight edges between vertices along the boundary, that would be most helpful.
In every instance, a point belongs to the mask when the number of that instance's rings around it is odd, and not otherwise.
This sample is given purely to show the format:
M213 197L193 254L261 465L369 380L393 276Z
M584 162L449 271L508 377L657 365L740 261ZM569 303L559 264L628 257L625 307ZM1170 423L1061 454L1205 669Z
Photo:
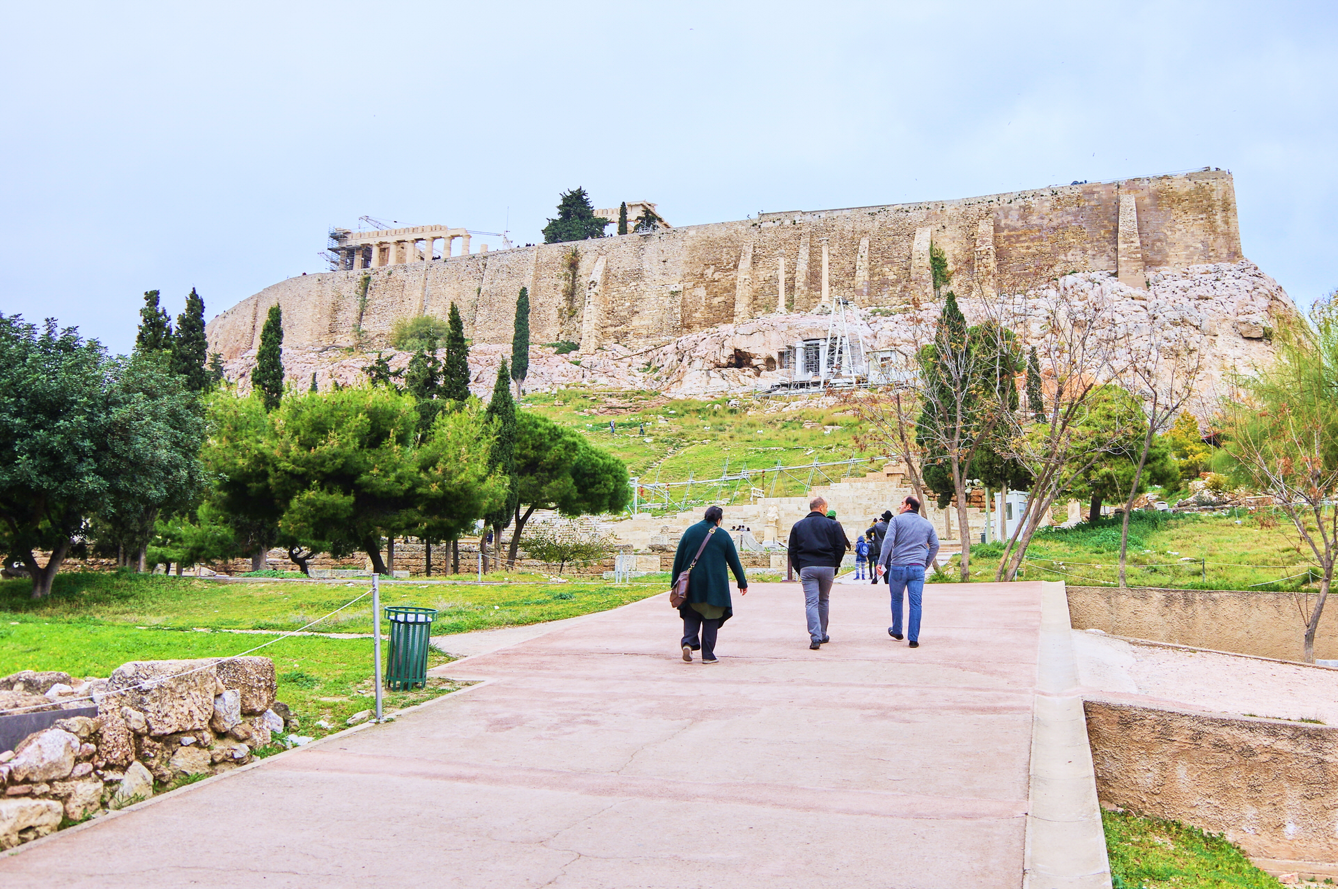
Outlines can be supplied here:
M1224 400L1226 448L1238 475L1272 495L1319 564L1319 595L1306 620L1305 658L1338 559L1338 306L1335 294L1279 325L1275 364L1242 377Z

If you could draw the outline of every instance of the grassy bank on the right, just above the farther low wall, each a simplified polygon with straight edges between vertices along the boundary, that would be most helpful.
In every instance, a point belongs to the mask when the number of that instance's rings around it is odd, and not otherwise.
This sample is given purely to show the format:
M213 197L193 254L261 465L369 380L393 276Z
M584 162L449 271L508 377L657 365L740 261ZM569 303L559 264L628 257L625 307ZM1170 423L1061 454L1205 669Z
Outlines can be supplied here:
M1128 582L1189 590L1298 590L1313 565L1291 524L1268 516L1137 512L1129 520ZM1239 519L1240 524L1236 524ZM1001 543L971 547L971 579L993 580ZM1026 580L1111 586L1119 579L1120 520L1041 529L1028 548ZM1200 565L1200 559L1207 561ZM955 565L955 561L954 561ZM955 571L951 571L957 576Z

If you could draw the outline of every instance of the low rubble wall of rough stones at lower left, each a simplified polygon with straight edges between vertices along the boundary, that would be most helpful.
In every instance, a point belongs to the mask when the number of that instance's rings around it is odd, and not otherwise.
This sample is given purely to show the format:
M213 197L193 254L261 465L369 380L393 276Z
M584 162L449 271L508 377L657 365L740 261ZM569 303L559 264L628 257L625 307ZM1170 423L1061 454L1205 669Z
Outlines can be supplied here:
M0 751L0 849L151 797L155 781L250 762L273 733L298 727L276 688L274 663L256 656L132 660L107 679L31 670L0 679L0 718L59 715ZM96 715L62 713L87 696Z

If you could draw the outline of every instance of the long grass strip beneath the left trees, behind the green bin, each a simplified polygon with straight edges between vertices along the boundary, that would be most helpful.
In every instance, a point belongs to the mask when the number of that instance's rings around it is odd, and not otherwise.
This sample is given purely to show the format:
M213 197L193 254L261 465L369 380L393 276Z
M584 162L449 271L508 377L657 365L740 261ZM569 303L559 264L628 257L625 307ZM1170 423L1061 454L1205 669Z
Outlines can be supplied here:
M367 584L363 579L332 583L227 583L163 575L72 572L58 575L51 596L40 602L28 598L28 582L0 582L0 612L44 620L177 630L297 630L364 592ZM660 587L653 583L397 583L381 587L381 604L438 608L432 632L444 635L574 618L615 608L658 591ZM369 634L372 598L367 596L310 631ZM383 632L385 631L383 622Z

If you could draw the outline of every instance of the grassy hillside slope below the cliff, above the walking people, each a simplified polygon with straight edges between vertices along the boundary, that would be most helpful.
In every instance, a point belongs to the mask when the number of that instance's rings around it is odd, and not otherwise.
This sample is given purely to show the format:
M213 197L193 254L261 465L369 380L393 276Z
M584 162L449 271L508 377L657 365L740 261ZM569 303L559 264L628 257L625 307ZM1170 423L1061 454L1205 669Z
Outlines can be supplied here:
M728 406L729 398L712 401L668 401L654 392L599 393L590 389L569 388L557 393L526 396L527 410L541 413L554 422L585 434L591 444L614 453L628 464L629 472L645 481L685 481L719 477L727 460L731 473L737 469L763 469L804 463L830 463L851 457L878 456L863 451L856 441L856 418L839 406L795 406L780 400L741 398L739 408ZM601 414L598 409L614 413ZM767 413L772 409L771 413ZM614 421L615 434L609 432ZM662 421L662 422L661 422ZM641 424L646 434L640 434ZM824 426L838 426L827 432ZM648 442L646 438L650 441ZM872 468L872 467L871 467ZM839 467L828 467L832 480L839 479ZM781 476L772 488L775 475L765 477L768 493L775 496L803 495L808 473L797 479ZM856 469L855 475L863 475ZM826 484L820 473L814 484ZM689 505L694 500L728 499L740 495L747 499L748 485L733 483L733 488L693 488ZM682 496L676 489L674 501ZM648 504L653 508L653 504Z

